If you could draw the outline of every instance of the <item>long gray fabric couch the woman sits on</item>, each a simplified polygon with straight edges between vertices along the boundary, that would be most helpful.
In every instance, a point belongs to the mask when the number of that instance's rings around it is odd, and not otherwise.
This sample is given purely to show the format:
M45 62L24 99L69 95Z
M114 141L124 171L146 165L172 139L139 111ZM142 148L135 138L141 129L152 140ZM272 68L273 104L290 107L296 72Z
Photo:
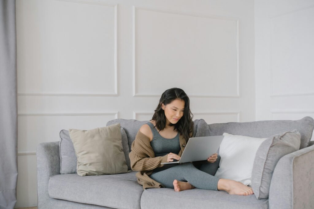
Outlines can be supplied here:
M126 132L129 149L138 129L147 121L114 119ZM136 171L115 175L79 176L60 174L59 141L37 146L38 208L311 208L314 205L314 146L309 142L314 121L255 121L207 124L194 121L193 136L246 135L266 138L276 133L299 130L300 150L287 154L277 163L269 198L255 195L229 195L225 191L193 189L176 192L168 188L143 191Z

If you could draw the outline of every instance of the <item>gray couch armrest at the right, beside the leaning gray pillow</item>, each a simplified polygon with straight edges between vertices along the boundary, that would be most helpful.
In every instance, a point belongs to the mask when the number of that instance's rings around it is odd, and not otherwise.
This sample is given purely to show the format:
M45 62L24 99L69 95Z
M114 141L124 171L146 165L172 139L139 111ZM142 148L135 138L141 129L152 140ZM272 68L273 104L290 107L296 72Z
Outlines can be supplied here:
M314 205L314 145L283 156L269 188L269 209Z

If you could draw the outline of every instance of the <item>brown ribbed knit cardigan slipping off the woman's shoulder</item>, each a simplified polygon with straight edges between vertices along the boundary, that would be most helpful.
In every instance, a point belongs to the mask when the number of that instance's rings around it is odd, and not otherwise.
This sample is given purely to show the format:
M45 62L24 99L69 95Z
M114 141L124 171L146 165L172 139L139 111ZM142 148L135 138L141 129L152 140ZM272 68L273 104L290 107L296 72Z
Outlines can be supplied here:
M185 138L179 135L180 147L179 156L181 157L185 145L187 144ZM138 130L135 140L131 145L131 152L129 154L131 161L131 169L133 171L139 171L136 173L138 183L143 185L143 190L147 188L165 188L161 183L151 179L149 175L153 173L153 170L157 167L163 167L167 162L167 156L155 157L153 148L150 145L149 137Z

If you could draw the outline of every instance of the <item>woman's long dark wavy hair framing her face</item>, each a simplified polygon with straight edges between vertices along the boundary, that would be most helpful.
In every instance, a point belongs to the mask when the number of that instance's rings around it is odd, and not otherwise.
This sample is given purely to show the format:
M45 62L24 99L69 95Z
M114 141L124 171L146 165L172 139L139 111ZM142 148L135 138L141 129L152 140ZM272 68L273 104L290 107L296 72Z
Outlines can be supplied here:
M186 141L188 141L193 134L194 122L192 120L193 114L190 110L190 99L182 89L171 88L162 93L152 120L156 121L155 127L157 127L159 131L163 130L166 127L166 116L165 110L161 108L161 105L162 103L167 105L175 99L181 99L185 102L184 111L182 118L180 118L176 124L170 123L170 126L174 126L174 130L177 130L179 134L183 135Z

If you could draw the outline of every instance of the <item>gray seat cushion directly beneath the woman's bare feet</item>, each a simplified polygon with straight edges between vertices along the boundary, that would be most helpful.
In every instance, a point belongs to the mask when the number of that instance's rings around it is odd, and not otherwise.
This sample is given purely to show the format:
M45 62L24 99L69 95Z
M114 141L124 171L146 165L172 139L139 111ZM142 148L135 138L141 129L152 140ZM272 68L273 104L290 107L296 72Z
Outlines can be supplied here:
M255 195L230 195L226 191L192 189L174 191L168 188L145 189L141 208L215 208L251 209L268 208L268 199L257 200Z

